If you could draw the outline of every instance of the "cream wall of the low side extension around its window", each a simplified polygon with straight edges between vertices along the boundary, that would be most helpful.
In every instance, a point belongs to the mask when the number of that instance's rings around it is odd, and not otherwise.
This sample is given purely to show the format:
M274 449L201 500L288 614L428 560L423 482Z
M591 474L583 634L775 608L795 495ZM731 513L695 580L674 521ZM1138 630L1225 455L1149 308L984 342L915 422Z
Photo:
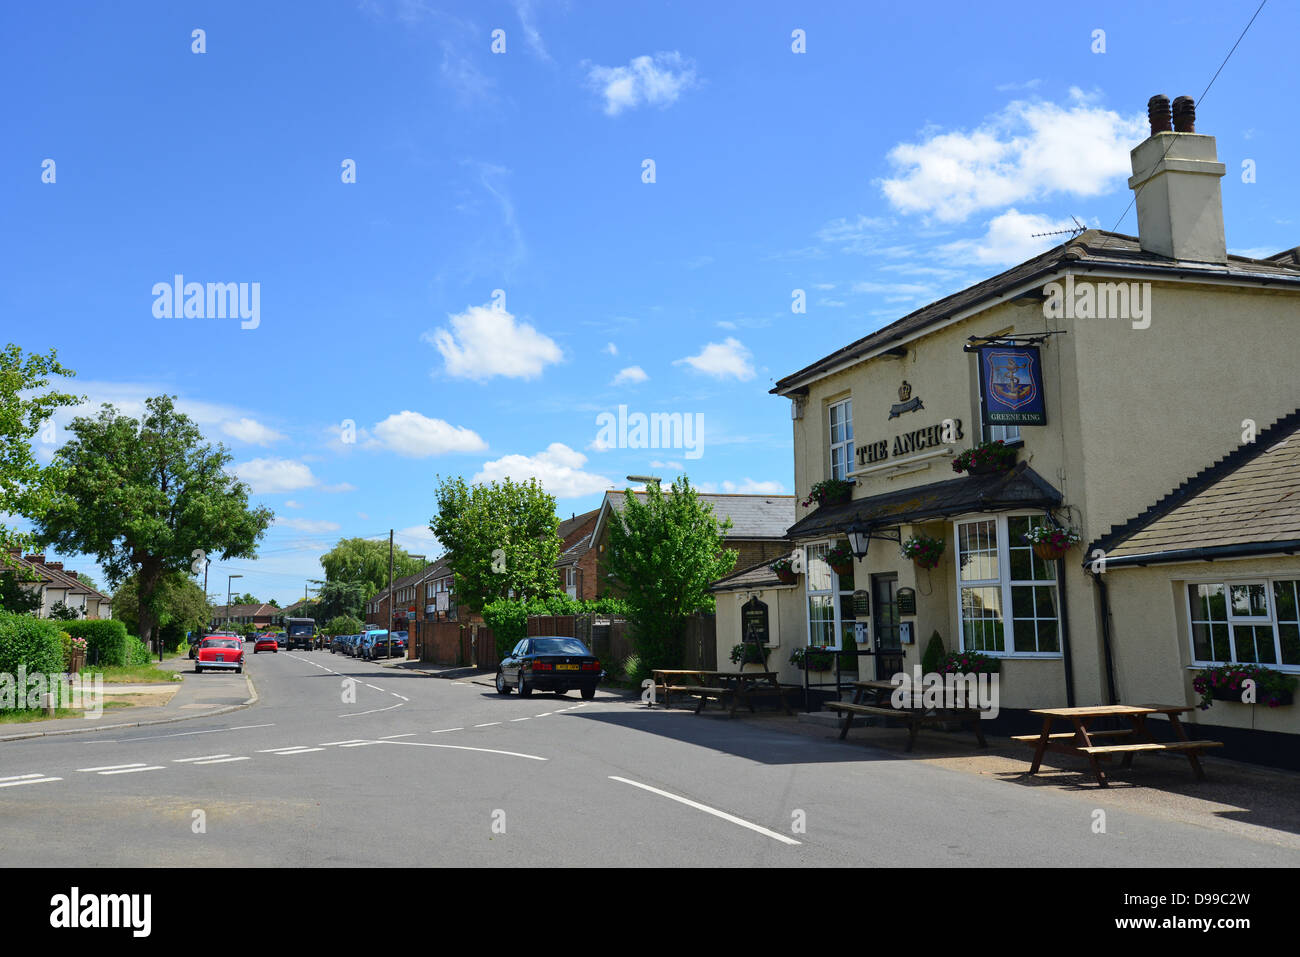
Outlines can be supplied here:
M1106 572L1119 700L1134 703L1199 705L1192 690L1186 583L1245 577L1300 579L1300 558L1278 557L1112 568ZM1300 733L1300 705L1260 707L1216 701L1183 720L1231 728Z

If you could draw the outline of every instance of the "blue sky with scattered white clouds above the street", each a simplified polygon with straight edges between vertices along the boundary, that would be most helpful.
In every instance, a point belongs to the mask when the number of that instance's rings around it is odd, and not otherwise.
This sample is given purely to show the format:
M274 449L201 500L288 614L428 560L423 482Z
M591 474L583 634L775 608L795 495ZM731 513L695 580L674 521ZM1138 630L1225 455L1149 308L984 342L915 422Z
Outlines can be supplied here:
M564 516L629 473L789 493L772 381L1071 216L1135 233L1147 99L1200 98L1257 5L6 5L5 341L230 447L277 525L214 592L300 597L342 536L437 554L436 473ZM1269 3L1197 104L1234 252L1300 242L1296 36ZM156 317L176 274L260 283L256 328ZM702 416L698 456L601 447L620 404Z

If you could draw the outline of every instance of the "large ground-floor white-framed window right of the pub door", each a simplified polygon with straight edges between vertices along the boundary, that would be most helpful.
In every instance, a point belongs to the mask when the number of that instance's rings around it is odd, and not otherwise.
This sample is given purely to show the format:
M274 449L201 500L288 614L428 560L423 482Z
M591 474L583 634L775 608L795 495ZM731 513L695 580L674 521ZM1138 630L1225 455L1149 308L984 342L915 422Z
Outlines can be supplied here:
M1043 515L991 515L953 523L961 649L992 655L1060 657L1056 563L1024 533Z

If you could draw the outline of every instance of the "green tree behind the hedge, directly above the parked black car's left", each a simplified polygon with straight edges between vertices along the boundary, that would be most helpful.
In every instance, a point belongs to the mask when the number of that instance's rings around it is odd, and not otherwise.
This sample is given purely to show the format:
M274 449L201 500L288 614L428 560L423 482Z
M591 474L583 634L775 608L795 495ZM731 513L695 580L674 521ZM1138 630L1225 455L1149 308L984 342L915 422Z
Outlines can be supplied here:
M560 521L541 482L467 485L439 476L436 498L429 528L447 549L458 602L481 611L511 592L524 599L559 592Z

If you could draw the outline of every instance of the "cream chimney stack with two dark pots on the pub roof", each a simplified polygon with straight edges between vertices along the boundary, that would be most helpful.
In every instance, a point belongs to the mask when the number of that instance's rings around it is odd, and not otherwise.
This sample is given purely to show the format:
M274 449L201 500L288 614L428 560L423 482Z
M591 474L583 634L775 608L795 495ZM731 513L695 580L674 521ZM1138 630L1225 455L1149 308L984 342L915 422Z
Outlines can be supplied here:
M1196 133L1191 96L1174 100L1173 126L1165 96L1147 103L1150 137L1130 153L1138 194L1138 239L1141 248L1167 259L1227 263L1223 239L1223 196L1214 137Z

